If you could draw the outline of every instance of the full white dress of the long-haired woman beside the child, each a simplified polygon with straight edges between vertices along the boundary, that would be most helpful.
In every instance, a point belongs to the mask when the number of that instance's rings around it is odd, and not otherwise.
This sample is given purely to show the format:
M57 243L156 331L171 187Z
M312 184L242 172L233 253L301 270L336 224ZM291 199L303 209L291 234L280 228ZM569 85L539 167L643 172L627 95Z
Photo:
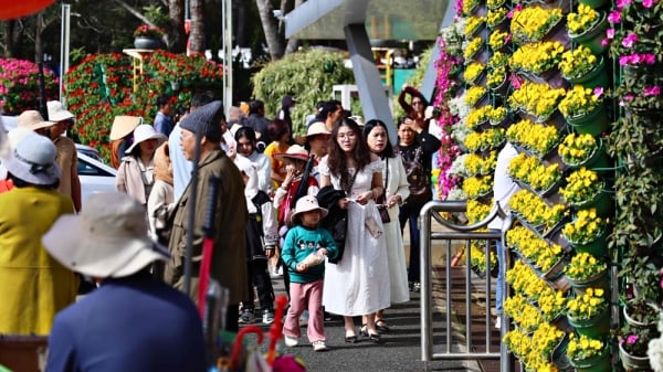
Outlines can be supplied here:
M355 178L350 199L371 190L372 174L380 172L382 161L366 166ZM341 190L340 179L329 174L326 159L319 164L323 176L329 176L335 189ZM355 170L349 169L350 174ZM348 230L343 258L338 264L325 264L323 305L325 310L343 316L376 312L391 305L389 264L385 233L373 237L366 228L371 216L383 232L382 222L371 200L366 205L351 202L348 206Z

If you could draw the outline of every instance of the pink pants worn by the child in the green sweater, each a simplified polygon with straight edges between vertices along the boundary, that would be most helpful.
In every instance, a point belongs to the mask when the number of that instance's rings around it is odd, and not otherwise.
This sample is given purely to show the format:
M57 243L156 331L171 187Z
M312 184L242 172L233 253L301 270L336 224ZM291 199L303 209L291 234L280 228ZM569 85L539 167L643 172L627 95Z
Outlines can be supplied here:
M308 309L308 327L306 334L309 342L325 341L323 325L323 279L312 283L291 283L291 307L283 323L283 334L299 338L299 316Z

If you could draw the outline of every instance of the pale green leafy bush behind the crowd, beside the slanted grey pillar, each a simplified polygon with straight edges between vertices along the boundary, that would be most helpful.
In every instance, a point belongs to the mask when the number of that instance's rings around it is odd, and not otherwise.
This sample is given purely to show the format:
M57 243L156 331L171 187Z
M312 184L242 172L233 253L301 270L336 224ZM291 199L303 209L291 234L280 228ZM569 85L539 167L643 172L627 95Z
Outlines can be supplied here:
M278 113L284 95L295 96L293 131L302 134L306 130L304 120L314 113L316 103L332 99L334 85L354 82L352 71L344 66L339 53L308 50L267 63L253 76L253 95L264 100L267 117Z

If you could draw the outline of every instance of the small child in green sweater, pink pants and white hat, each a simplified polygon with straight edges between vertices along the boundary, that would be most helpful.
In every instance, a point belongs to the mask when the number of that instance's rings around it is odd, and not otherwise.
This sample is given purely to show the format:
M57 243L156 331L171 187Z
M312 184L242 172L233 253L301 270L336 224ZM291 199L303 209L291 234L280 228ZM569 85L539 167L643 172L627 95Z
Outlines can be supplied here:
M299 343L299 316L308 309L308 340L315 351L326 351L323 319L323 279L325 256L336 257L338 249L328 231L318 227L327 210L312 195L301 198L292 215L293 227L285 236L282 249L290 283L290 309L283 325L287 347Z

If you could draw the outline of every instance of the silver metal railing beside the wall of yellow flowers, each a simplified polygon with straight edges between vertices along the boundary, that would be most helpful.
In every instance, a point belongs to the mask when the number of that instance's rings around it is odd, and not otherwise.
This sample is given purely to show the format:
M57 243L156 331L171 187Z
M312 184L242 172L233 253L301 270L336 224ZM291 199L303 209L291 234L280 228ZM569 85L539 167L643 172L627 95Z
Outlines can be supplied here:
M464 201L432 201L427 203L421 213L419 215L419 224L420 224L420 242L421 242L421 359L424 362L424 365L433 360L495 360L499 359L499 370L501 371L512 371L513 358L507 358L506 347L501 342L499 352L491 351L491 343L493 341L493 337L491 333L493 322L491 319L491 278L490 278L490 249L488 244L493 241L497 241L502 238L501 232L490 232L483 231L477 232L478 228L485 228L491 221L495 217L506 217L503 210L499 205L495 205L488 216L483 221L475 223L473 225L457 225L450 221L442 219L440 213L450 212L450 213L460 213L466 211L466 202ZM444 231L433 232L431 230L432 220L435 220L439 224L441 224ZM508 220L508 219L507 219ZM504 225L508 225L505 223ZM504 230L503 230L504 231ZM485 258L486 258L486 280L485 280L485 293L486 293L486 315L485 315L485 351L475 352L473 351L473 340L472 340L472 273L470 270L471 267L471 249L470 249L470 241L484 241L486 246L485 249ZM431 274L432 274L432 258L431 258L431 243L432 241L443 241L445 244L445 310L446 317L445 322L445 349L443 352L433 352L433 297L432 297L432 283L431 283ZM452 351L452 266L451 266L451 256L452 256L452 241L464 241L465 242L465 346L464 351ZM508 267L508 254L503 255L506 258L506 262L503 263L504 267ZM508 286L503 287L504 298L508 296ZM508 329L508 319L503 317L502 319L502 328L501 328L501 338L505 333L505 329Z

